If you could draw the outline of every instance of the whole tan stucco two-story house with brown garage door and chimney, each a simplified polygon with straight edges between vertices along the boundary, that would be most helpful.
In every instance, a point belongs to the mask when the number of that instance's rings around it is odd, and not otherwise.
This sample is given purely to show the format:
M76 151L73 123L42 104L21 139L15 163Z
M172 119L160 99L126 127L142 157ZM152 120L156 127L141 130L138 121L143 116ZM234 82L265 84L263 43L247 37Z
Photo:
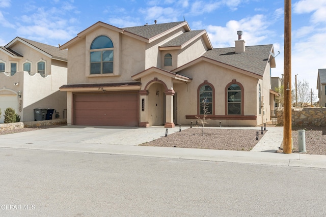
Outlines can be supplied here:
M209 108L209 125L257 126L275 109L273 45L213 49L186 21L118 28L97 22L68 49L68 125L190 125Z

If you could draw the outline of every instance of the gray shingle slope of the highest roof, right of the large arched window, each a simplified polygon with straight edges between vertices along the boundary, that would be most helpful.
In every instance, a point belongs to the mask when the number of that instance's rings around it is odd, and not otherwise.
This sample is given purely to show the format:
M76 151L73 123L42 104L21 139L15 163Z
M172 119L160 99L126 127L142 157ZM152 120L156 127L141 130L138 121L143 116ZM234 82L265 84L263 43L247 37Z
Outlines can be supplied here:
M145 39L151 39L184 22L185 21L161 23L161 24L153 24L153 25L142 25L142 26L126 27L121 29L129 33L141 36Z

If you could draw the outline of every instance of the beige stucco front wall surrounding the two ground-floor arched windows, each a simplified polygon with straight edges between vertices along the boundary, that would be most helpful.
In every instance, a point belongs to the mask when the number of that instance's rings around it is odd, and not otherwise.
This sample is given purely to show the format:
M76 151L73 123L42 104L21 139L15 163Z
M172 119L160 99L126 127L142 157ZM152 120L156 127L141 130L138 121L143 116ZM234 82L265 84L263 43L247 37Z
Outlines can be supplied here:
M185 118L186 114L197 114L197 90L205 80L211 83L215 89L215 115L226 115L225 88L234 79L243 86L244 115L257 115L257 88L256 85L252 85L253 83L257 84L256 78L206 62L199 63L179 73L193 78L191 83L174 86L178 95L177 117L179 123L189 122ZM211 120L211 122L216 122L216 120Z

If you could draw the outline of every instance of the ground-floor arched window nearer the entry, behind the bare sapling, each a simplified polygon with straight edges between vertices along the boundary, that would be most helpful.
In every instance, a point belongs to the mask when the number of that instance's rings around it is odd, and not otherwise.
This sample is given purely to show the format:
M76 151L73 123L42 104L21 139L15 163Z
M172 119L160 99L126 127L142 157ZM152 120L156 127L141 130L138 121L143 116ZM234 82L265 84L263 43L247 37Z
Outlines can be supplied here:
M203 84L199 88L199 114L213 114L213 88Z

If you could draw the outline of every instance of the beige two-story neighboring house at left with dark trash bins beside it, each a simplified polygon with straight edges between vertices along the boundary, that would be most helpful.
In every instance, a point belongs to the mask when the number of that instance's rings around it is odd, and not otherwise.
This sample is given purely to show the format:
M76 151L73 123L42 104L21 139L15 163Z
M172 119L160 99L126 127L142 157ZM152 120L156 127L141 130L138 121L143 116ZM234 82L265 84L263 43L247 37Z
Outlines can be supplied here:
M67 84L67 53L20 37L0 47L0 123L9 107L21 121L35 120L34 109L55 109L63 117L67 95L59 87Z

